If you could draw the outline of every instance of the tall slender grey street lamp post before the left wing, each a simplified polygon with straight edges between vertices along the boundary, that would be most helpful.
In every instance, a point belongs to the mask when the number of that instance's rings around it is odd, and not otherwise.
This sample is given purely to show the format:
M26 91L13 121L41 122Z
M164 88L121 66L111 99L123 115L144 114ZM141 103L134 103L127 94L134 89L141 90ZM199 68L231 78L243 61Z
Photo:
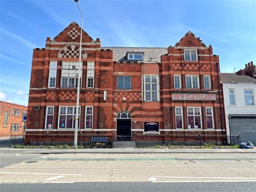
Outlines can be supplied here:
M78 9L82 12L78 5L78 0L74 0L78 6ZM83 18L82 18L83 20ZM76 118L75 118L75 137L74 137L74 149L77 149L77 129L78 129L78 113L79 113L79 94L80 94L80 70L81 70L81 52L82 52L82 21L81 21L81 33L80 33L80 48L79 48L79 68L78 68L78 80L77 80L77 94L76 94Z

